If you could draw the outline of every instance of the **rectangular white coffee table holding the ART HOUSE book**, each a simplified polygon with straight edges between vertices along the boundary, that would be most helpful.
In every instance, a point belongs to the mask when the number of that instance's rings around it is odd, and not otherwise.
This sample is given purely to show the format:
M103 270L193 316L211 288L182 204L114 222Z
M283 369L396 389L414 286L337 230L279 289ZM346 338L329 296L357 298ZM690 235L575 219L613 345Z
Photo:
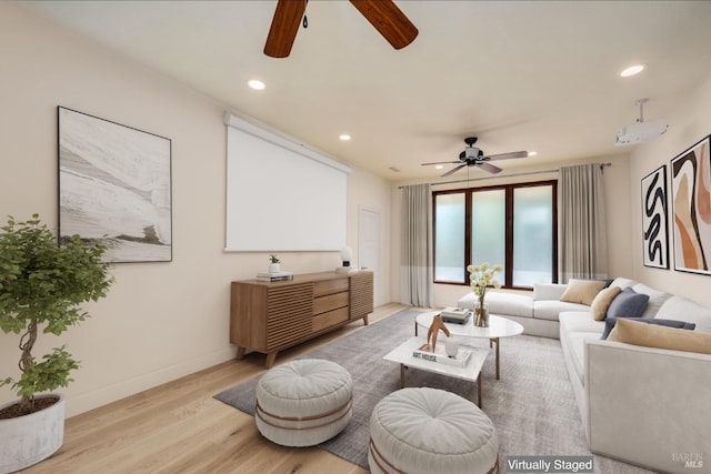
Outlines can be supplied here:
M410 337L382 357L385 361L397 362L400 364L400 387L404 389L404 371L408 367L474 382L477 383L477 405L481 409L481 367L484 364L487 355L489 355L489 349L467 347L472 351L472 354L467 362L467 365L460 367L443 364L441 362L432 362L413 357L412 351L420 347L425 342L427 341L422 337ZM442 341L441 344L444 344L444 341Z

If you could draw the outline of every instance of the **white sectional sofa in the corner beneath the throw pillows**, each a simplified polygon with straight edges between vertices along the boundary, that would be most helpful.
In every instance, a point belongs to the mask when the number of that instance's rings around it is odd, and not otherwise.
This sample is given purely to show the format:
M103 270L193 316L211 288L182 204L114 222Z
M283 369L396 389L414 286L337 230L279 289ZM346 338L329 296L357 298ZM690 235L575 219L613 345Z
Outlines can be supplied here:
M711 333L711 309L629 279L610 286L648 295L643 319ZM711 473L711 354L601 340L605 321L595 321L589 305L561 302L565 290L488 292L487 302L524 333L560 339L590 450L659 472ZM472 296L459 305L471 307Z

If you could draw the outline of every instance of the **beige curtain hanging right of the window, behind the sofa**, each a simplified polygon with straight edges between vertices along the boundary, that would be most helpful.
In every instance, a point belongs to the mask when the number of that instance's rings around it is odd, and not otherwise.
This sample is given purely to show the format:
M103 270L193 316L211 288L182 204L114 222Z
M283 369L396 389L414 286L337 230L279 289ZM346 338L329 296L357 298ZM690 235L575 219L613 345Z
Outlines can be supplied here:
M602 167L563 167L558 180L558 278L608 278Z

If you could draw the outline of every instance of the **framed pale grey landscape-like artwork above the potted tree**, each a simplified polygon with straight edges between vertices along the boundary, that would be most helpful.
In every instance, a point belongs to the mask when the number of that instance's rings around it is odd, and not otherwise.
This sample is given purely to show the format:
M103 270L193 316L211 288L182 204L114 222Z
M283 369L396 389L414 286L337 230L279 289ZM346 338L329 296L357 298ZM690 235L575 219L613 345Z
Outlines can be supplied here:
M59 236L102 239L107 262L172 261L171 141L58 107Z

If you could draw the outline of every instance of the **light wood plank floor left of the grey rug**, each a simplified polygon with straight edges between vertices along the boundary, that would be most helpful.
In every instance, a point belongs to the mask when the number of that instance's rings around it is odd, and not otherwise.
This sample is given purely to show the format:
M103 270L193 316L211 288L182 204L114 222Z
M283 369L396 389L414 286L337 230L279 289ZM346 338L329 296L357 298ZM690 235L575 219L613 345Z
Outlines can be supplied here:
M370 322L403 305L379 306ZM351 323L279 353L277 363L358 331ZM23 473L339 473L367 474L318 447L289 448L264 440L254 418L212 396L264 372L251 353L67 420L64 444Z

